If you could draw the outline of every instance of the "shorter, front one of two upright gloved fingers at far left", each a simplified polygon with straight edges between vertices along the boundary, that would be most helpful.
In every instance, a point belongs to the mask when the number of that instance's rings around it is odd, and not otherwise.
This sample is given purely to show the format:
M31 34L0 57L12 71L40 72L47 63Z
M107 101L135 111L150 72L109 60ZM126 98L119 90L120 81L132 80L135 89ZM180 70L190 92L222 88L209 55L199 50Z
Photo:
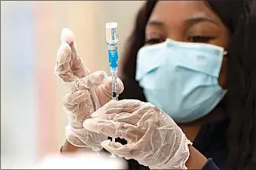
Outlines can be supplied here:
M55 63L54 72L65 82L76 80L76 76L72 74L69 66L70 60L71 48L66 42L63 42L57 52L57 62Z

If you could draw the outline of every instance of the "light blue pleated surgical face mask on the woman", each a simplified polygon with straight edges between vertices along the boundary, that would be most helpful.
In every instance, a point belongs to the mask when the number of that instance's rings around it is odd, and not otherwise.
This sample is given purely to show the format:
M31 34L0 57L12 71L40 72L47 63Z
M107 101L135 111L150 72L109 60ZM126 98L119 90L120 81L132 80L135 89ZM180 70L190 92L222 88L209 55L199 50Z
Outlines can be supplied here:
M174 121L195 121L225 95L218 84L223 54L216 45L167 39L139 50L136 80L147 101Z

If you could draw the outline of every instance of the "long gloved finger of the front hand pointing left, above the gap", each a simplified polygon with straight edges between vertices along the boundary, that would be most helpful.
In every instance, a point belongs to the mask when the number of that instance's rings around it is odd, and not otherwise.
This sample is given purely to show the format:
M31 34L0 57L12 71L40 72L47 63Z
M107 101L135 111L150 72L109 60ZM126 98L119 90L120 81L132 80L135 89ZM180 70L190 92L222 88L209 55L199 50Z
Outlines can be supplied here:
M98 118L83 121L83 128L106 136L126 139L130 142L138 141L146 132L146 129L135 125Z

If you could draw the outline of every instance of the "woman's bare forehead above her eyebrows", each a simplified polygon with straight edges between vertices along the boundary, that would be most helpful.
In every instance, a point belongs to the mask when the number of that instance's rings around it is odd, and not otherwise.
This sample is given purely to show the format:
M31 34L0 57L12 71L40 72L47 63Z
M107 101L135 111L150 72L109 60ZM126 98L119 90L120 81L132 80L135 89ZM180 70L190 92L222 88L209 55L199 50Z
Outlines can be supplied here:
M173 25L194 17L208 17L217 23L221 22L203 1L159 1L149 21L158 20L164 24Z

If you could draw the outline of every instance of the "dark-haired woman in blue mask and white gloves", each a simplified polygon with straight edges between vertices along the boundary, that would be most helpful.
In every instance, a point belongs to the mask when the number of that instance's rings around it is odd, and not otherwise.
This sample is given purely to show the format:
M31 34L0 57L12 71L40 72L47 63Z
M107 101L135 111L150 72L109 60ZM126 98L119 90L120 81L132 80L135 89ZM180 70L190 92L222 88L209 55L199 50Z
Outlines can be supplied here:
M135 159L129 168L254 169L255 12L252 0L146 2L124 55L119 102L107 103L106 74L89 74L66 38L56 72L75 82L64 100L62 153L103 146Z

